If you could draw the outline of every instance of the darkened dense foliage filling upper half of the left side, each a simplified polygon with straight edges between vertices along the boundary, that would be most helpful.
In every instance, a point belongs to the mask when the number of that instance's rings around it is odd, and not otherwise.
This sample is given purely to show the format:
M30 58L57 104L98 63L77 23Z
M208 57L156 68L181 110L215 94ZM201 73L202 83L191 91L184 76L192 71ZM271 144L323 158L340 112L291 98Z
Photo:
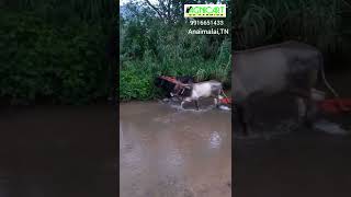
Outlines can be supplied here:
M2 2L0 99L11 104L80 104L106 97L107 2Z

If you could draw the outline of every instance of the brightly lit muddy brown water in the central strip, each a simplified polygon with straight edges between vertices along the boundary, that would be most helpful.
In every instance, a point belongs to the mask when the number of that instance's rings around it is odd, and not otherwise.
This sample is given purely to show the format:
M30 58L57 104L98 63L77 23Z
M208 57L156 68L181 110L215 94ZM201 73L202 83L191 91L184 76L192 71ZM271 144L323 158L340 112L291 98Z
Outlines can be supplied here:
M230 112L120 105L121 197L231 196Z

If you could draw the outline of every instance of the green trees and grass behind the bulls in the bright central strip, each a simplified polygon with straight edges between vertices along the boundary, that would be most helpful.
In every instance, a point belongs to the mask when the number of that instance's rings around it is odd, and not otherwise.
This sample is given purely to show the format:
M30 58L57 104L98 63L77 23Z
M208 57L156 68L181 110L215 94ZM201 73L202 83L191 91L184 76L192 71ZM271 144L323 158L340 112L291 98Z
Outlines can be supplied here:
M161 3L156 9L136 2L125 7L127 16L120 21L120 100L158 97L157 76L192 76L197 81L215 79L230 85L230 37L190 35L179 10L183 1L174 1L170 8L178 9L170 12Z

